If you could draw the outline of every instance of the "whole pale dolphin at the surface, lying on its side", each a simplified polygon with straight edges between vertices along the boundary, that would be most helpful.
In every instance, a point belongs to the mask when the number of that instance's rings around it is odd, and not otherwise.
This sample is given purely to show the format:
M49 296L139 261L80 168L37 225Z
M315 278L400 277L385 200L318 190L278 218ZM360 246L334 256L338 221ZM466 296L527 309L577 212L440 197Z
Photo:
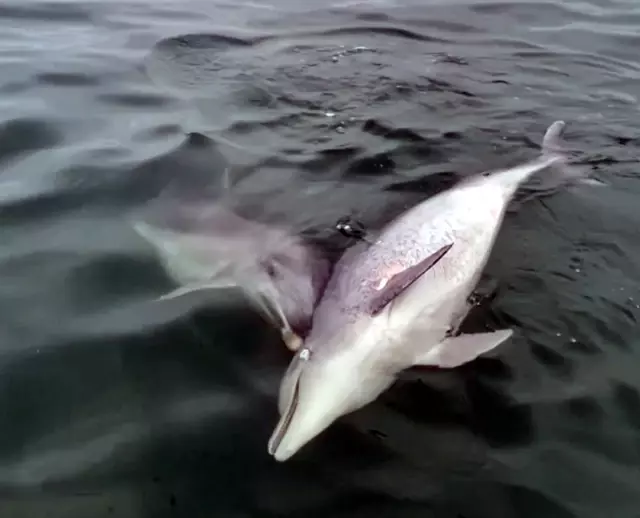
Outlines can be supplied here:
M549 126L536 159L463 179L346 250L281 381L268 442L275 460L374 401L404 369L455 368L511 337L458 328L520 184L549 166L576 178L558 145L564 126Z

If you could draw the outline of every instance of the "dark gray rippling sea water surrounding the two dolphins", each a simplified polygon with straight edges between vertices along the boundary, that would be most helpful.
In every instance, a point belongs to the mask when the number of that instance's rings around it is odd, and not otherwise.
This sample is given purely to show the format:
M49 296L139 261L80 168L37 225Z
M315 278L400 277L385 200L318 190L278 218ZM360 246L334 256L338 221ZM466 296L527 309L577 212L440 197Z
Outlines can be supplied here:
M0 6L0 515L640 516L640 6L267 2ZM239 210L336 254L339 217L535 156L555 119L607 186L508 215L482 319L516 338L275 463L276 332L152 304L130 218L231 166Z

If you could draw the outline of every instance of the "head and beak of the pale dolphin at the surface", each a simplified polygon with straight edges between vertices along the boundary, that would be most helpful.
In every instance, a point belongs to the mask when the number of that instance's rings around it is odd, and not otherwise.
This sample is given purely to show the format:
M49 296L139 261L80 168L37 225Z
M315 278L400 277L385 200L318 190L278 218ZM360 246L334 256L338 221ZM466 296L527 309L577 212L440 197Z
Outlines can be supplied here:
M341 416L373 401L392 382L394 376L378 368L362 356L365 340L380 335L363 331L348 333L349 344L305 344L289 364L278 400L280 420L269 439L270 455L283 462L326 430ZM313 331L312 331L313 333ZM344 340L346 335L341 335ZM365 347L360 347L363 345Z

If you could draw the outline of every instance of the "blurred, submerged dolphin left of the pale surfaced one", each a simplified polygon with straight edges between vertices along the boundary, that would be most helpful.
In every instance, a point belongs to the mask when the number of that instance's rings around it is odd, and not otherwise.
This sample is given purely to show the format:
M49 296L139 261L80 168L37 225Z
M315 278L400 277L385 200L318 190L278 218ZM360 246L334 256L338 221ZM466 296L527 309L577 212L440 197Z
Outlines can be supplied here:
M295 351L328 278L325 258L286 229L247 220L216 202L191 202L178 212L186 230L132 222L179 285L159 300L240 289Z

